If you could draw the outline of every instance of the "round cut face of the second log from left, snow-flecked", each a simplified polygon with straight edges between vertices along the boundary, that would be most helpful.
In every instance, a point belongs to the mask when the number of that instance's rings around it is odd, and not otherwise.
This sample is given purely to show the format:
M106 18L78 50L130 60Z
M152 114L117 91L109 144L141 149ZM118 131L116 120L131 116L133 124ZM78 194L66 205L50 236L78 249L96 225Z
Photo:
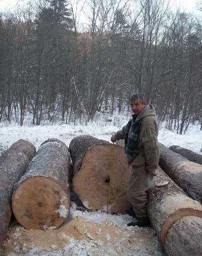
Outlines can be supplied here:
M69 214L68 193L53 179L28 178L13 193L13 213L25 228L56 229Z

